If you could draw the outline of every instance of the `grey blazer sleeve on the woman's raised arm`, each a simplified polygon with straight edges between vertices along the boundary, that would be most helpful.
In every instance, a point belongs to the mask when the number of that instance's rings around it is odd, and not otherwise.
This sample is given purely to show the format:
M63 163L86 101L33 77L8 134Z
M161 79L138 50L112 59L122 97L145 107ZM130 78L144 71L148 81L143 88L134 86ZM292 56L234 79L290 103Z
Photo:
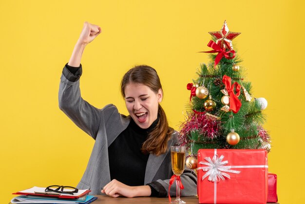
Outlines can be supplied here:
M79 78L82 73L81 66L76 73L70 72L65 66L60 77L58 104L62 110L79 128L96 139L97 131L101 122L105 122L103 109L95 108L89 102L82 99L79 88ZM111 114L107 114L108 116Z

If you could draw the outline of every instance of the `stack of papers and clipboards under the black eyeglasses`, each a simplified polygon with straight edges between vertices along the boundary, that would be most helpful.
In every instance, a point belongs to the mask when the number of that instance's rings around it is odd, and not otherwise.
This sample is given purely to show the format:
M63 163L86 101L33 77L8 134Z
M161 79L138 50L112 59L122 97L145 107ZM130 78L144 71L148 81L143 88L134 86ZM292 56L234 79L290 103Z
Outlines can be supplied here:
M67 193L44 192L45 187L34 186L13 194L20 195L11 204L89 204L97 197L88 195L90 190L78 190L73 195Z

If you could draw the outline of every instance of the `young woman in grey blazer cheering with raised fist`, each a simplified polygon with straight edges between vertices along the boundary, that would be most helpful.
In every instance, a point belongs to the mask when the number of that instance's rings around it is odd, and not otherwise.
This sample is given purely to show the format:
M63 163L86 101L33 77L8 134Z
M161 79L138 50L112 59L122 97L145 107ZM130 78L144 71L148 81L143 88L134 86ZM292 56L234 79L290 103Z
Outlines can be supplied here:
M113 104L95 108L80 96L80 64L84 48L99 34L99 26L84 23L72 56L62 71L59 108L95 144L86 171L77 188L112 197L167 196L171 168L170 146L178 143L160 106L162 86L157 72L141 65L130 69L121 82L129 116ZM182 196L196 195L197 178L189 170L181 175ZM171 186L171 195L176 186Z

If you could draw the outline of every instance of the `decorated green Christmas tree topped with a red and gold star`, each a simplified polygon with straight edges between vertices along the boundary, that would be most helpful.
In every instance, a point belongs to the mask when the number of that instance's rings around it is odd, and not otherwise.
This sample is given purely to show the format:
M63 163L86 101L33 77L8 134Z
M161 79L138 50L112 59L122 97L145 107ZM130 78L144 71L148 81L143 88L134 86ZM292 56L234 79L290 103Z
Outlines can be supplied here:
M220 31L209 32L211 63L201 64L198 78L187 85L191 91L186 121L180 140L191 153L186 164L196 168L198 149L266 149L270 136L263 128L267 107L264 98L251 95L251 82L233 50L232 40L240 33L230 32L226 21Z

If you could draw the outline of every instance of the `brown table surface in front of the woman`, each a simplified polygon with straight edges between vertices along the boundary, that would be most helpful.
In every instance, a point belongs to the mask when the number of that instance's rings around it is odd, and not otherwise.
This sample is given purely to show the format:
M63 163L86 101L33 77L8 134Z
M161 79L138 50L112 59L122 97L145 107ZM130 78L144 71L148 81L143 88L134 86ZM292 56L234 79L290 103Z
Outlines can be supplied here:
M96 196L98 199L95 200L92 204L168 204L169 198L157 198L157 197L137 197L137 198L112 198L109 196ZM172 200L175 198L172 197ZM190 197L181 197L182 201L185 201L187 204L199 204L198 198L196 196ZM274 204L274 203L273 203Z

